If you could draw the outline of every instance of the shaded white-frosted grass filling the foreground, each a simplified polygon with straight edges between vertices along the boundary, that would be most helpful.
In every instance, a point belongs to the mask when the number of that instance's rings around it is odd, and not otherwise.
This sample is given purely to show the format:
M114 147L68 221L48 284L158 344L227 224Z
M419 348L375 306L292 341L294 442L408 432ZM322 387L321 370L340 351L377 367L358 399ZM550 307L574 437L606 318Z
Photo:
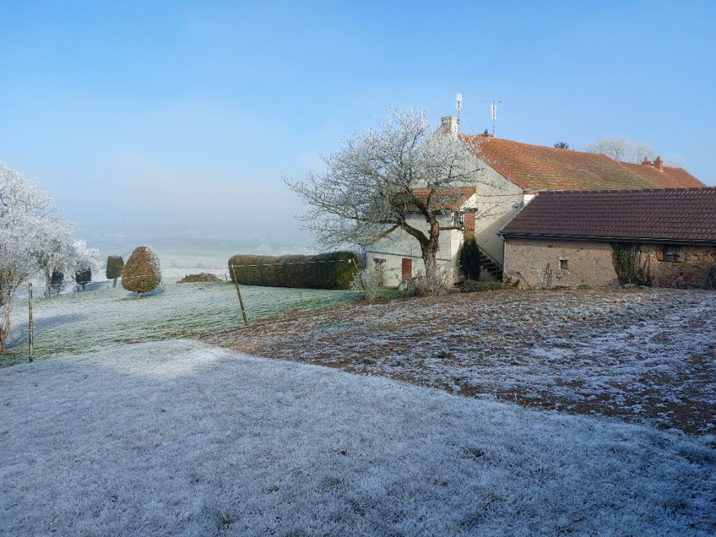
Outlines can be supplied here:
M0 369L0 535L709 536L715 440L123 345Z

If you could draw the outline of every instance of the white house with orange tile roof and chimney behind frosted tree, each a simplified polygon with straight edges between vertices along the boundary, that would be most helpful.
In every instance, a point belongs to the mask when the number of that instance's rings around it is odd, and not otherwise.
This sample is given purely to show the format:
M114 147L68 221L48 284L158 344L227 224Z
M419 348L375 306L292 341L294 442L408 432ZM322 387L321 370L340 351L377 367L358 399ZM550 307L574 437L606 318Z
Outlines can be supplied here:
M443 117L442 128L458 133L458 118ZM620 163L605 155L556 149L503 140L488 135L460 135L475 147L474 180L461 185L474 193L454 211L442 216L440 267L458 274L463 242L474 236L483 253L481 279L502 279L505 243L499 235L509 221L544 190L632 190L642 188L699 188L697 178L681 168L664 166L661 158L642 164ZM427 230L417 215L409 222ZM382 266L384 284L397 286L402 279L425 269L420 244L397 230L366 248L367 266Z

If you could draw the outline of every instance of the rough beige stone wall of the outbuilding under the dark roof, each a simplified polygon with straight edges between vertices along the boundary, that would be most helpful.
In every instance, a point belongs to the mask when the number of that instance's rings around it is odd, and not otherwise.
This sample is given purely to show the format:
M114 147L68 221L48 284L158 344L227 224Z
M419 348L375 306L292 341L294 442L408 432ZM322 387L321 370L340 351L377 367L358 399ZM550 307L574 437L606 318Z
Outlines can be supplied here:
M507 238L505 280L525 287L618 286L609 242ZM640 247L639 266L658 287L705 286L716 246L681 246L679 261L663 261L661 245Z

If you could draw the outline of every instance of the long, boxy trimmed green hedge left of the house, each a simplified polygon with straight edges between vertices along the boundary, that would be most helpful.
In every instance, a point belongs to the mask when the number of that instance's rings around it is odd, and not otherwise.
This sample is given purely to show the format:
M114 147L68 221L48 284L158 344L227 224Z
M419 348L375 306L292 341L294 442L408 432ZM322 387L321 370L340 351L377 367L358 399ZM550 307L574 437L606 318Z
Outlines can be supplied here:
M353 260L353 262L349 262ZM317 256L233 256L228 260L231 281L239 284L303 289L349 289L359 266L349 251ZM237 266L238 265L238 266ZM236 266L232 269L232 266Z

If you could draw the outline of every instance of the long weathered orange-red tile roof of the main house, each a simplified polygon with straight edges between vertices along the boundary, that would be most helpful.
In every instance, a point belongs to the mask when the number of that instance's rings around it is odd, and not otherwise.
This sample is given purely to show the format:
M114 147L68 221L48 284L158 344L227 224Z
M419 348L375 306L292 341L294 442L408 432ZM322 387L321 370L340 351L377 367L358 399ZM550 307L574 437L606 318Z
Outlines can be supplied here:
M681 168L620 163L605 155L465 136L475 155L525 190L629 190L705 186Z

